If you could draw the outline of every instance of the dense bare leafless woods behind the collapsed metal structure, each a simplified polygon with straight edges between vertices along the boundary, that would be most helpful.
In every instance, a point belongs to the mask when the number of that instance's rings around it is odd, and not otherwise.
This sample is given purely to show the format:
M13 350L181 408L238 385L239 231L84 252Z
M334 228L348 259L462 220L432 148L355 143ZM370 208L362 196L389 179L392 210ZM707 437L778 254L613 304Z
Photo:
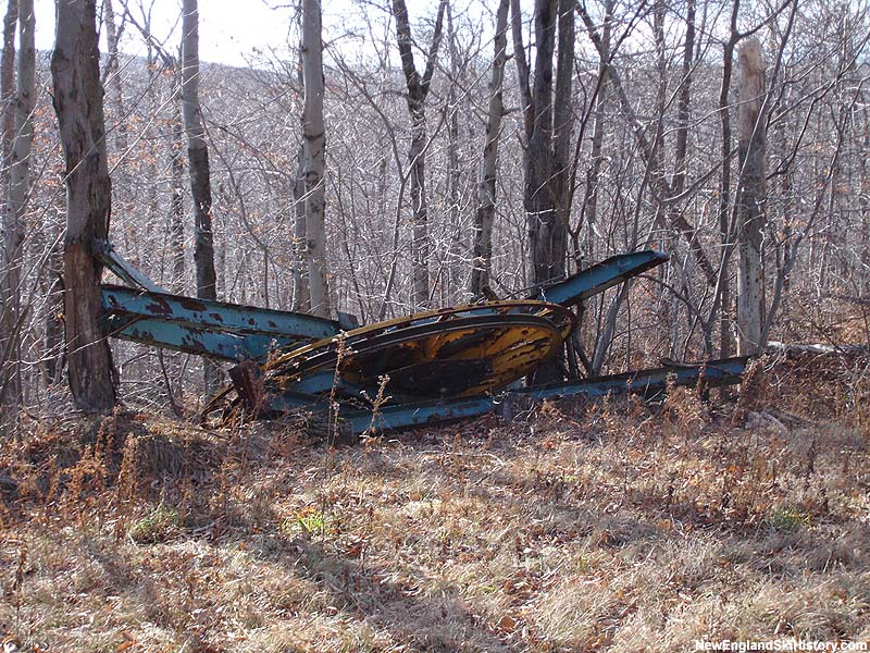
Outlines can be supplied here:
M866 2L411 9L328 8L321 37L319 2L277 7L289 54L229 67L199 63L196 2L157 34L153 5L103 0L110 241L175 293L362 323L669 252L585 307L582 374L866 340ZM57 410L69 169L33 30L10 0L0 389ZM124 401L181 412L203 394L198 359L112 348Z

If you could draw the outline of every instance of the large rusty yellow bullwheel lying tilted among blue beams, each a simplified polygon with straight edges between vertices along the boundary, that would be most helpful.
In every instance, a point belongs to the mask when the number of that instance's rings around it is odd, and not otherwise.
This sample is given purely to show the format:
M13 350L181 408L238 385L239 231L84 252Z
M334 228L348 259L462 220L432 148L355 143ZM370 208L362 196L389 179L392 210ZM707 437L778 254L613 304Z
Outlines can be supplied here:
M534 300L407 316L270 360L264 392L279 404L289 393L312 403L328 395L360 405L378 391L393 402L494 392L552 357L574 326L568 309ZM238 390L224 389L207 410L238 405Z

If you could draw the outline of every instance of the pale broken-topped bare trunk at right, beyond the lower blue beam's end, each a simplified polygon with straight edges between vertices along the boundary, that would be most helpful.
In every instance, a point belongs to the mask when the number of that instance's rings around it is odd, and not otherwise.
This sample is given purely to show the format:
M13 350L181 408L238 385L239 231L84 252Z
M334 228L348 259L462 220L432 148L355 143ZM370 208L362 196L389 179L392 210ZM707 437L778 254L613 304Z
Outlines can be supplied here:
M743 45L739 60L737 353L748 356L763 346L761 331L765 324L765 271L761 258L765 227L765 62L758 39L750 38Z

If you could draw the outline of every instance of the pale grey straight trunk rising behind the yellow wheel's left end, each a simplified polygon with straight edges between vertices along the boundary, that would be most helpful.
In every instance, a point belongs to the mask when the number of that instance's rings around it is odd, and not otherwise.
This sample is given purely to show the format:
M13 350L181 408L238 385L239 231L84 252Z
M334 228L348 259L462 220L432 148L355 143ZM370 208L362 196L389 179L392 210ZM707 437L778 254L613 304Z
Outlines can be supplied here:
M326 284L325 170L326 138L323 124L323 42L320 0L302 2L302 147L304 148L306 254L311 312L330 317Z

